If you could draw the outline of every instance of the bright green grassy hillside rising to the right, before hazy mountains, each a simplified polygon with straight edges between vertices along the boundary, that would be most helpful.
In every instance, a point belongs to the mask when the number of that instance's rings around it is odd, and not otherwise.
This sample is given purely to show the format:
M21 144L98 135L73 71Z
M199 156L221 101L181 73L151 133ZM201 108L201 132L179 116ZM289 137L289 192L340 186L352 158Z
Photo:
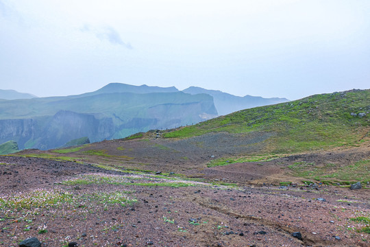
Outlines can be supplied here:
M272 132L272 153L301 152L356 145L370 126L370 90L313 95L293 102L262 106L204 121L163 134L194 137L208 132Z

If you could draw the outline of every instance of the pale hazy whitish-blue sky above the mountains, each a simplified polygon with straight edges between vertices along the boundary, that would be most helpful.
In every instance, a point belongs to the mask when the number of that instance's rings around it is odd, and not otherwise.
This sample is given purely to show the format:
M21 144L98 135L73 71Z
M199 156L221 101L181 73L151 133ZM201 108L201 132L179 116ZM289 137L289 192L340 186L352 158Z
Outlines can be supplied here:
M370 88L369 0L0 0L0 89L300 99Z

